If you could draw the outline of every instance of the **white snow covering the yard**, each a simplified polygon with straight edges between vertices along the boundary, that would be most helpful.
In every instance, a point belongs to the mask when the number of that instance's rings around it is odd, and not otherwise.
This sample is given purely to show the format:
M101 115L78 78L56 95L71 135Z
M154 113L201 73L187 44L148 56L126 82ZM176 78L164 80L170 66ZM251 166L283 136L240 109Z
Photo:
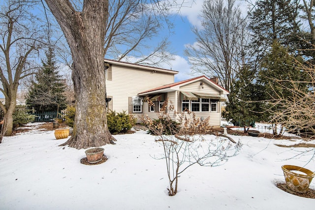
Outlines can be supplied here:
M229 135L241 140L240 153L219 167L191 166L179 178L179 192L170 197L165 160L154 158L161 157L163 149L146 131L116 135L116 145L103 146L108 160L91 166L80 163L85 150L59 147L67 139L56 140L54 131L31 125L30 131L4 137L0 144L0 210L315 209L315 199L275 186L284 182L282 165L315 171L314 148L274 145L302 142L298 137Z

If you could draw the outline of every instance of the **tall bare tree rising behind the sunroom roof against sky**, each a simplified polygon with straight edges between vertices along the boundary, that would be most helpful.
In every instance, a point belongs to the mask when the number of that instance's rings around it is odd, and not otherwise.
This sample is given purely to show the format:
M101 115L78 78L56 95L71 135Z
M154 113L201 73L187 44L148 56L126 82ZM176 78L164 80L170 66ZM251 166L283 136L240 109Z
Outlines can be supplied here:
M193 72L218 77L221 85L230 90L240 65L246 63L249 34L245 19L235 0L205 1L201 17L202 29L192 29L196 43L188 45L185 53Z

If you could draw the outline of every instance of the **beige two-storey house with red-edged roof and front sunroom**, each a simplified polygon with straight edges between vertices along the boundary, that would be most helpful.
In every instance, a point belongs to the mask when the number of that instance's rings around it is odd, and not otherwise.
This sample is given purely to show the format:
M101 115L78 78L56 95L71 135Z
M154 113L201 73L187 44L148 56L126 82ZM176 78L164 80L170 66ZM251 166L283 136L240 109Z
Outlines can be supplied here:
M168 98L176 112L186 109L197 118L210 116L210 125L221 125L221 101L229 92L218 81L206 76L174 83L178 71L151 66L104 60L106 66L106 93L110 98L107 108L116 112L127 111L138 119L157 118L156 112ZM146 98L155 102L149 107Z

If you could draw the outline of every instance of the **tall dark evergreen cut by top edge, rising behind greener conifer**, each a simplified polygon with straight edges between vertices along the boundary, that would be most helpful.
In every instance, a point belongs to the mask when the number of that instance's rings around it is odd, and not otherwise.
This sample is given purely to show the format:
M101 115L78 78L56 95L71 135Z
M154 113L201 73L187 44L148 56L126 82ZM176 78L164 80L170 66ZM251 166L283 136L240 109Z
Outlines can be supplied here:
M258 0L256 9L249 14L253 42L252 48L258 58L277 40L282 45L296 48L299 31L298 0Z

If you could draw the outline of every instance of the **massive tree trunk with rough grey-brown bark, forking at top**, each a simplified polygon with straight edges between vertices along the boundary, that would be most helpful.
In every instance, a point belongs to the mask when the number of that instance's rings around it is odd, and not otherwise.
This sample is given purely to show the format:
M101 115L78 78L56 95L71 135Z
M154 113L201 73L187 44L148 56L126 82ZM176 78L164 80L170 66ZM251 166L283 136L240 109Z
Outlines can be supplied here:
M68 0L46 0L71 49L76 113L71 138L63 145L99 147L114 138L107 128L104 38L107 0L84 1L82 12Z

